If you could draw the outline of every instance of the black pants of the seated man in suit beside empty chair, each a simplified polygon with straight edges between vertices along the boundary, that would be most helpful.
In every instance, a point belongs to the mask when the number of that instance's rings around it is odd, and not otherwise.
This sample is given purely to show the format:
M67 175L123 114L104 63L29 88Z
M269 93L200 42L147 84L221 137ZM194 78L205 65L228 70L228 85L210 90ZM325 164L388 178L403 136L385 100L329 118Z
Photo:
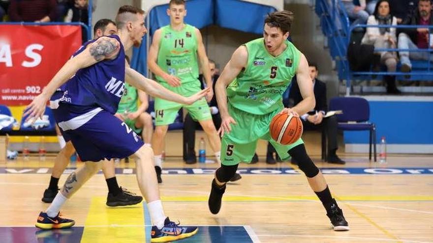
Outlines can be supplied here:
M322 123L313 124L311 122L302 120L302 125L304 125L304 130L320 130L326 132L328 137L328 155L330 152L335 152L338 149L337 143L337 117L335 115L323 118Z

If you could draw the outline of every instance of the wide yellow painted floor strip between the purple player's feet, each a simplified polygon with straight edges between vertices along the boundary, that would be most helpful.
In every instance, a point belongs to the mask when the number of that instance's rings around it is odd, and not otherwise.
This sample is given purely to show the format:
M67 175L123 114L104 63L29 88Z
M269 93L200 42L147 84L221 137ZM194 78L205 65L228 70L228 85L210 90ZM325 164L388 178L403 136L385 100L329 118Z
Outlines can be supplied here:
M81 243L146 242L141 203L128 207L109 208L105 202L106 197L92 197ZM86 227L98 225L116 227Z

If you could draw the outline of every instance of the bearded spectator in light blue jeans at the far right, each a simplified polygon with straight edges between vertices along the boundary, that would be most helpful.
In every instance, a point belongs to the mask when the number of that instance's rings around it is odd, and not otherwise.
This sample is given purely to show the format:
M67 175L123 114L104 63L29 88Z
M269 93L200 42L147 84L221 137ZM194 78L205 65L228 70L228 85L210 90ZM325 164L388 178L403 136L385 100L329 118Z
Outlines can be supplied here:
M419 0L418 10L413 11L402 21L402 25L421 25L433 26L432 2L431 0ZM399 34L399 49L426 49L429 46L433 48L433 34L429 36L429 28L403 28ZM429 43L430 40L430 43ZM399 52L402 62L402 72L412 70L412 60L430 60L433 61L433 55L428 52Z

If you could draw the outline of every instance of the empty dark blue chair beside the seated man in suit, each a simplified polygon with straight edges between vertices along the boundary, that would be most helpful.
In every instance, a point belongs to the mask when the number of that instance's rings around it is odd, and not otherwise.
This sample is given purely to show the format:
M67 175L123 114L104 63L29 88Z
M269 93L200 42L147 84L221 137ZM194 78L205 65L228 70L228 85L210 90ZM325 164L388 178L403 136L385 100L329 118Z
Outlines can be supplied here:
M338 129L343 131L370 131L369 159L371 160L371 144L374 144L374 162L376 162L376 126L370 120L370 105L364 98L335 97L329 104L330 110L342 110L337 115Z

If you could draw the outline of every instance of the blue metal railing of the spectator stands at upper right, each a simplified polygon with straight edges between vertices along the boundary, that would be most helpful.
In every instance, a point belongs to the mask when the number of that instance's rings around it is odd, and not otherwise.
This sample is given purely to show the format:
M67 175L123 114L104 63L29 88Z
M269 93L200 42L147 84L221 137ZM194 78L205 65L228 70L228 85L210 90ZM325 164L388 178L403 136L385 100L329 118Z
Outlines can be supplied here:
M331 1L331 2L330 2ZM433 26L387 26L387 25L350 25L347 13L344 10L341 0L316 0L316 13L320 17L323 34L328 38L328 46L333 60L336 61L336 68L340 80L346 81L346 95L350 94L351 80L367 80L372 79L372 76L396 75L401 80L402 77L410 75L410 80L433 81L432 62L412 61L412 71L409 73L403 72L352 72L347 61L347 46L350 42L350 36L354 29L362 27L396 27L396 28L430 28ZM432 32L431 32L432 33ZM429 35L430 38L430 35ZM430 42L430 40L429 40ZM433 55L433 49L418 49L418 50L402 50L402 49L375 49L375 52L380 51L407 51L407 52L428 52L429 56ZM399 64L400 67L400 64ZM399 70L398 67L398 70Z

